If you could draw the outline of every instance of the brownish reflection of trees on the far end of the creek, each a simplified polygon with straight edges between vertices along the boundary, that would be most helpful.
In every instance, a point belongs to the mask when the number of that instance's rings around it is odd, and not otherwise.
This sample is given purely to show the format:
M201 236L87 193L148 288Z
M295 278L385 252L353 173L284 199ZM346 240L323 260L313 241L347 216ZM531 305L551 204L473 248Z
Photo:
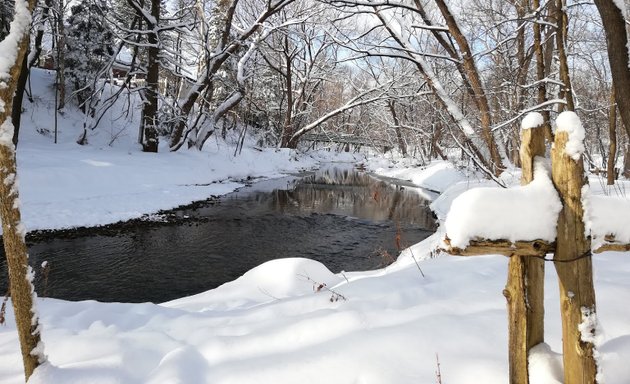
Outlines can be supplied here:
M427 200L353 170L324 171L302 179L292 190L276 190L267 196L270 208L281 212L336 213L435 228Z

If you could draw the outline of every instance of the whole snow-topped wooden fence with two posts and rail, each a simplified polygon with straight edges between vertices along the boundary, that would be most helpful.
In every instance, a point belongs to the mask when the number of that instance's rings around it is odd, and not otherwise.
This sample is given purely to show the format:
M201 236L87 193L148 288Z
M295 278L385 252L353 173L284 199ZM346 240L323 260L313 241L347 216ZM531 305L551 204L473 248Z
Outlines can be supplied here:
M512 384L529 381L527 354L523 351L528 351L536 340L543 340L543 327L539 323L543 314L542 266L535 269L529 264L527 269L526 263L542 262L546 254L555 253L564 383L593 384L598 369L594 343L599 335L591 248L592 253L630 251L627 225L630 200L590 195L582 162L585 133L580 120L574 112L563 112L556 122L558 129L551 151L552 179L546 161L536 156L542 154L544 143L540 138L528 137L535 135L537 129L524 130L521 150L526 158L522 183L529 183L509 189L466 191L453 201L444 223L447 236L441 248L447 253L510 257L510 276L504 294L510 311ZM535 276L538 272L540 276ZM527 299L524 303L523 297ZM528 318L519 321L519 313Z

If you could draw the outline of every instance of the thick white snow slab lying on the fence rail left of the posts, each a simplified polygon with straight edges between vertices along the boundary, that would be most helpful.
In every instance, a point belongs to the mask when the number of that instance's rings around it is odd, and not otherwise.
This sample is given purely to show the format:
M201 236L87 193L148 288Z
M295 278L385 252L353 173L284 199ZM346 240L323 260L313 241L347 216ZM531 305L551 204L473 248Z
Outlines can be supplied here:
M458 248L475 238L554 241L561 209L547 164L536 159L530 184L466 191L453 201L444 226Z

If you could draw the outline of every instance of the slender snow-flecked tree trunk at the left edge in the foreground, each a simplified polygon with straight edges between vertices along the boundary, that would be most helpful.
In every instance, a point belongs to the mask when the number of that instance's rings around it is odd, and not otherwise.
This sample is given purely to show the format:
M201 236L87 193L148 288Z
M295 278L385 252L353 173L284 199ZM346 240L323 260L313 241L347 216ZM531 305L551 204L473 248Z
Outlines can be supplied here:
M0 217L2 218L2 231L4 250L9 270L9 286L11 301L15 313L15 322L20 340L22 360L24 362L24 374L26 380L32 375L35 368L43 362L43 351L40 350L40 329L37 313L33 310L34 288L32 284L32 271L28 265L28 255L24 240L25 230L21 224L15 145L13 144L13 124L10 113L12 99L20 75L21 64L28 50L29 23L24 22L24 16L28 16L35 6L35 0L16 0L16 19L22 22L11 24L9 37L16 38L15 45L2 46L8 50L15 49L15 61L8 69L8 78L0 75L0 82L6 84L0 87L0 101L4 108L0 109ZM10 54L12 52L7 52Z

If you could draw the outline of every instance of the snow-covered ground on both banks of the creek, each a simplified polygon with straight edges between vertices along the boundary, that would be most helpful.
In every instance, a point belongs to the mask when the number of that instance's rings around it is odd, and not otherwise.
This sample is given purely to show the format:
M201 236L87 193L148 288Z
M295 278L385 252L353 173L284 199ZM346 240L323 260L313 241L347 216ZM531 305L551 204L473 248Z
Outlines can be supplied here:
M38 72L35 76L42 76ZM80 116L66 111L60 144L50 130L49 90L37 89L38 108L25 104L18 149L21 204L29 230L98 225L138 217L209 195L250 177L273 177L354 160L387 176L444 191L434 202L444 217L463 191L489 186L437 162L417 168L383 159L330 153L255 149L240 156L211 139L203 152L143 154L135 131L116 116L73 144ZM108 143L117 137L113 146ZM518 174L506 180L518 182ZM596 193L623 194L601 187ZM480 221L484 217L479 218ZM508 260L434 256L436 234L402 252L391 266L333 274L306 259L260 265L217 289L163 304L67 302L38 299L49 363L32 383L506 383L507 319L502 290ZM593 258L599 344L607 384L630 382L630 253ZM546 269L546 345L531 357L532 383L562 382L557 279ZM325 285L323 285L325 284ZM23 382L10 306L0 326L0 383Z

